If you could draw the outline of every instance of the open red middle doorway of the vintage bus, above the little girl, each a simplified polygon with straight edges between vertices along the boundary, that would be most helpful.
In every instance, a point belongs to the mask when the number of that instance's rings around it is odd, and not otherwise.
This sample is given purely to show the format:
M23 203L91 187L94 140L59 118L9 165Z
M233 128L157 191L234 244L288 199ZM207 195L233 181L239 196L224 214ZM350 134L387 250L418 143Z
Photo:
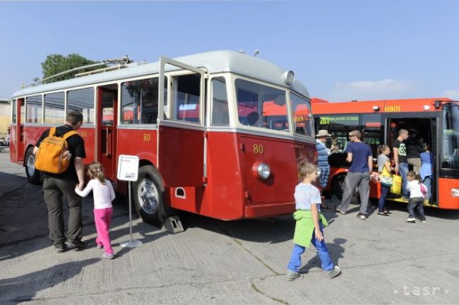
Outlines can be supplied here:
M97 88L97 160L108 179L117 178L118 85Z

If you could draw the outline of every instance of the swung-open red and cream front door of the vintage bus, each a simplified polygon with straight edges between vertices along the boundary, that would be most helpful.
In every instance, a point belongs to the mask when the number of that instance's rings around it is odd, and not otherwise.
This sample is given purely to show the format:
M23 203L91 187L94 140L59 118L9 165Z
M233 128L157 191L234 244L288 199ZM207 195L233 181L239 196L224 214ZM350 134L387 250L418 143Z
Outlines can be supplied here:
M165 78L165 68L179 73ZM167 80L167 95L165 92ZM165 185L202 186L206 180L205 71L160 58L157 167Z

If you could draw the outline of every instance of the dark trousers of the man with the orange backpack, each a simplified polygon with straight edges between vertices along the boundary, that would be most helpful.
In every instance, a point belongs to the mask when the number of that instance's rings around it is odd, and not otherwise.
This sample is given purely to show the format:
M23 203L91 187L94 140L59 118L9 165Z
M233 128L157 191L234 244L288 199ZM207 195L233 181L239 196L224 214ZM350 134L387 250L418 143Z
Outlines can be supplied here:
M54 244L64 243L64 211L62 196L68 205L68 241L81 241L83 237L81 197L75 193L76 182L54 177L44 178L44 202L48 208L49 239Z

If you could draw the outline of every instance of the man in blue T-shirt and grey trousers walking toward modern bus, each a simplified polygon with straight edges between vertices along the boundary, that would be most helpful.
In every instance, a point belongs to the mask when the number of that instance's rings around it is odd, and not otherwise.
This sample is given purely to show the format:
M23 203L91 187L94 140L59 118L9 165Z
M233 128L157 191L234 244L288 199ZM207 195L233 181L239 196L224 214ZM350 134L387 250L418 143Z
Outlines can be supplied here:
M347 212L354 190L358 186L360 211L357 217L364 220L370 195L369 184L371 170L373 169L373 154L369 145L362 142L362 133L360 131L351 131L349 137L350 143L346 148L346 161L350 162L351 165L346 175L345 191L342 195L341 204L338 205L336 211L341 214Z

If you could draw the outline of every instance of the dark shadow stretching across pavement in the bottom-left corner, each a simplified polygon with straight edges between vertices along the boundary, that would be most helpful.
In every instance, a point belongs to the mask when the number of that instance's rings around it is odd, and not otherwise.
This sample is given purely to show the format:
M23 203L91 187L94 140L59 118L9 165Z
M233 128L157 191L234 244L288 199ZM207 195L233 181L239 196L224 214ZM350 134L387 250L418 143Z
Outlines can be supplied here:
M100 258L62 263L26 275L0 280L0 302L30 301L37 292L71 279L81 273L83 268L97 261L100 261Z

